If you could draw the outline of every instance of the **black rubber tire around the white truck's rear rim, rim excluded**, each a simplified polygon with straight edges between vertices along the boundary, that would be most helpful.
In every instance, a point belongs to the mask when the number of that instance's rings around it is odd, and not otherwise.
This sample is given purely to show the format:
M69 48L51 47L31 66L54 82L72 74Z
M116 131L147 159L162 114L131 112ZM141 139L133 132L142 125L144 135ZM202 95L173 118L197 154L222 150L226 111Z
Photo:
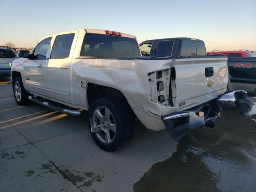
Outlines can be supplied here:
M113 140L109 143L102 142L93 131L93 121L96 121L94 111L101 107L107 108L111 112L111 117L114 118L115 122L116 132ZM98 98L92 103L89 110L89 130L93 140L104 151L110 152L125 147L128 145L134 134L134 116L132 109L126 101L116 97L108 96ZM105 134L105 132L102 131L103 130L100 130L100 134Z

